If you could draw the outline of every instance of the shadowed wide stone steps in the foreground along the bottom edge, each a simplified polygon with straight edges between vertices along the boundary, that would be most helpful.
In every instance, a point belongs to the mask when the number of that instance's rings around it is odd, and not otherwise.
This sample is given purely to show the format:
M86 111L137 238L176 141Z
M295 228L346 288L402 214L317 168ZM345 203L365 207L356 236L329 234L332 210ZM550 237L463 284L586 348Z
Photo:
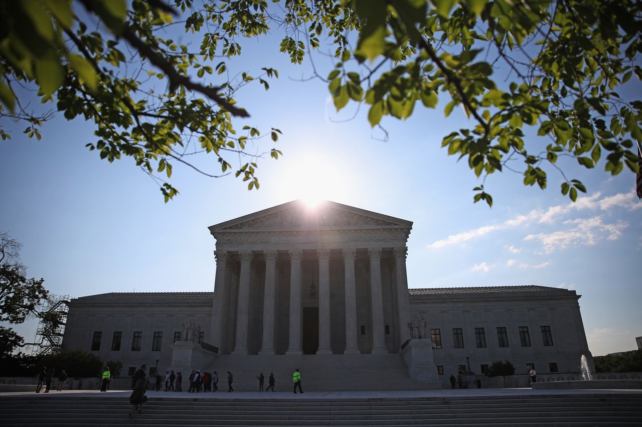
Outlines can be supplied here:
M230 395L231 396L231 395ZM218 396L217 396L218 397ZM639 426L642 393L377 399L156 398L128 418L123 394L2 396L0 425Z

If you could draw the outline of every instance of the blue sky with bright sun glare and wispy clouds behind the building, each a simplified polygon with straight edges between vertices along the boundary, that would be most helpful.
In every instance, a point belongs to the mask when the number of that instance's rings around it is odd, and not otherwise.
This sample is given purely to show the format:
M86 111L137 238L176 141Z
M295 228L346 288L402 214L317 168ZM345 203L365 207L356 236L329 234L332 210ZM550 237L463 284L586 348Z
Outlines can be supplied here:
M592 171L561 162L589 190L574 205L559 194L562 178L555 171L548 171L544 191L524 187L518 174L494 174L486 181L494 206L473 204L472 188L480 181L440 148L444 135L470 125L460 110L444 118L445 102L436 110L418 105L407 121L384 119L389 139L383 142L381 131L370 129L367 108L357 111L352 103L337 114L325 83L296 81L311 69L290 65L278 44L252 42L241 61L229 65L250 74L270 66L280 74L268 92L249 85L238 97L251 114L236 122L239 129L248 124L283 132L275 145L282 158L259 162L259 191L248 192L233 176L210 179L175 165L172 181L180 195L165 204L131 160L110 164L87 151L91 124L57 117L38 142L22 134L26 125L3 119L13 133L0 142L0 230L22 242L28 275L73 297L213 290L214 239L207 226L313 194L413 221L410 287L572 289L582 295L593 355L636 347L634 338L642 335L642 201L632 173L611 177L602 172L603 160ZM327 74L327 58L317 56L315 63ZM527 144L542 140L528 137ZM256 149L272 146L268 137ZM217 171L213 157L196 162ZM31 337L35 324L17 330Z

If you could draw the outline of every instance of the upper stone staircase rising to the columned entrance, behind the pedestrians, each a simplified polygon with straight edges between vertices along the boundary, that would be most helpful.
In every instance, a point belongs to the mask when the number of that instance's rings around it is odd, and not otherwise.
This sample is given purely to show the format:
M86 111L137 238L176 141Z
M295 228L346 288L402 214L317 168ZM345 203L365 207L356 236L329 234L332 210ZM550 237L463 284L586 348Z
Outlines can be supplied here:
M218 356L202 372L216 371L218 387L227 391L227 372L234 376L234 390L257 390L259 373L268 386L274 374L277 390L292 389L292 374L299 369L306 390L428 390L441 389L441 383L411 380L408 368L397 354L383 355L233 355ZM436 373L435 368L435 373ZM183 373L185 375L185 373Z

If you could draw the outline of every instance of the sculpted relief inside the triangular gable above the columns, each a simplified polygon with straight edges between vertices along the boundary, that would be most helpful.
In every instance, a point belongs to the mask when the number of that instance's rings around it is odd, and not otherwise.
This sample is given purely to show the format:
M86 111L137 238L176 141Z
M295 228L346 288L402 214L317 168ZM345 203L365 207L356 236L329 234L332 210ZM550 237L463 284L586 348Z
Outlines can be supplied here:
M390 226L396 224L338 209L315 211L288 209L282 212L265 215L260 218L250 219L250 221L245 221L241 224L231 226L230 229L363 225Z

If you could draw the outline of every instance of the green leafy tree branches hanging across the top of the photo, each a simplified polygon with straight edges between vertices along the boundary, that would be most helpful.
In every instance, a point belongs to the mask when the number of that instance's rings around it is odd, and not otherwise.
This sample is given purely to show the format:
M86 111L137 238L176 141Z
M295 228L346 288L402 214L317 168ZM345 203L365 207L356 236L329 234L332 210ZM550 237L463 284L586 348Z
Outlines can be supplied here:
M250 154L248 144L268 133L275 142L281 131L246 125L239 136L233 122L248 111L234 97L249 84L267 90L278 72L229 72L245 40L275 31L282 35L279 50L293 64L329 47L332 70L320 75L309 61L313 72L327 81L337 110L351 102L367 106L370 126L380 126L385 116L406 119L415 107L444 106L446 116L462 108L471 126L445 130L442 146L483 180L508 170L521 174L525 185L546 188L546 170L554 169L562 177L562 194L575 201L586 188L567 176L560 157L589 169L602 161L610 174L625 165L639 170L638 1L0 3L0 114L28 122L26 133L40 138L42 122L53 113L28 112L16 92L18 85L35 85L43 103L55 102L67 119L94 122L90 149L110 162L134 158L160 180L166 200L177 194L167 181L174 163L220 176L232 171L230 154L247 158L236 176L259 188L262 155ZM179 24L200 37L199 49L168 38L167 29ZM508 72L495 76L497 70ZM0 135L9 136L1 128ZM274 148L263 151L281 155ZM200 152L214 153L220 174L189 162L189 155ZM475 202L492 205L483 183L474 190Z

